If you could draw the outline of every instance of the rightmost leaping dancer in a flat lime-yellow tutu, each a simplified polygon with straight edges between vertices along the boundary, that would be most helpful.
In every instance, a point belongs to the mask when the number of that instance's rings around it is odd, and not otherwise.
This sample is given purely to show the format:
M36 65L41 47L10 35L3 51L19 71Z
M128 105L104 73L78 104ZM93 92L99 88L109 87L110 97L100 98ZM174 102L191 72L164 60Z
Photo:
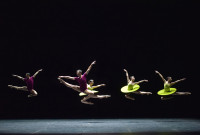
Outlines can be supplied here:
M190 95L190 92L176 92L176 88L171 88L171 86L173 86L174 84L184 81L186 78L177 80L175 82L172 82L172 78L171 77L167 77L167 80L164 79L164 77L158 72L155 71L160 78L163 80L164 82L164 89L158 91L158 95L161 95L161 100L168 100L171 99L173 95Z

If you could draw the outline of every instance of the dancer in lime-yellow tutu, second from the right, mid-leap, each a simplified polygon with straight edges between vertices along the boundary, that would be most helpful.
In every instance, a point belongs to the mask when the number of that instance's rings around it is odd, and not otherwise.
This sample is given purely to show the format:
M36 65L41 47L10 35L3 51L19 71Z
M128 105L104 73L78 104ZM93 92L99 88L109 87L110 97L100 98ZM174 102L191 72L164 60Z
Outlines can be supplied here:
M145 92L145 91L137 91L140 86L138 84L142 82L148 82L148 80L141 80L139 82L135 82L135 77L131 76L129 78L128 71L124 69L126 72L126 77L127 77L127 86L124 86L121 88L121 92L125 93L125 98L135 100L135 98L131 97L130 94L141 94L141 95L150 95L152 94L151 92Z

